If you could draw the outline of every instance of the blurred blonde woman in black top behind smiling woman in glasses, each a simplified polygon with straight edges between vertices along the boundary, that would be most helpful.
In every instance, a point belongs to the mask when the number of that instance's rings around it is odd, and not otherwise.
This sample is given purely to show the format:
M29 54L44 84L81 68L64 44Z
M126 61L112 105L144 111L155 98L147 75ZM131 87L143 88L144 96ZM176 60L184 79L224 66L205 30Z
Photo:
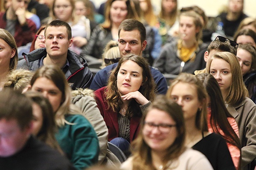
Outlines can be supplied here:
M207 127L207 92L194 75L180 74L173 80L166 96L181 106L186 127L185 146L203 153L214 170L236 170L226 141L209 133Z

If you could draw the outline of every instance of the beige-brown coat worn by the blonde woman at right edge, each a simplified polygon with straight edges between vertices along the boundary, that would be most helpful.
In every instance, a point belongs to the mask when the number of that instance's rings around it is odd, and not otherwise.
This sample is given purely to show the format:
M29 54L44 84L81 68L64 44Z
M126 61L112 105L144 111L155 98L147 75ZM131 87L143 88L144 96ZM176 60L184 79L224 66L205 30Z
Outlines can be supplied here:
M256 159L256 105L245 98L237 106L227 106L227 110L236 119L241 142L241 170L247 170L247 165Z

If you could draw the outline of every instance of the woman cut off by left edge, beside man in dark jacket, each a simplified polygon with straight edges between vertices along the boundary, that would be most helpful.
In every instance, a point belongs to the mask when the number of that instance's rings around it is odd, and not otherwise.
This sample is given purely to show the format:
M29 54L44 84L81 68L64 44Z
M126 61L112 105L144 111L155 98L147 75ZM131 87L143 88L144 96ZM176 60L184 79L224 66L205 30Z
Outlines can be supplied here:
M9 31L0 28L0 89L6 81L6 76L17 68L18 51L14 37Z

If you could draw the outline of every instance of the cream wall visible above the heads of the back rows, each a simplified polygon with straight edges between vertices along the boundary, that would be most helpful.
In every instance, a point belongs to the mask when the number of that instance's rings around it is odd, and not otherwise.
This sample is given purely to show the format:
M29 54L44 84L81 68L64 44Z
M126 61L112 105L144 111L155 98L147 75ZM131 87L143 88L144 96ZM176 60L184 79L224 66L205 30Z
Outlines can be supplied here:
M106 0L92 0L98 8ZM156 13L160 10L161 0L151 0ZM228 0L178 0L178 8L197 5L204 9L207 16L215 17L219 10L227 5ZM256 0L244 0L244 13L250 17L256 17Z

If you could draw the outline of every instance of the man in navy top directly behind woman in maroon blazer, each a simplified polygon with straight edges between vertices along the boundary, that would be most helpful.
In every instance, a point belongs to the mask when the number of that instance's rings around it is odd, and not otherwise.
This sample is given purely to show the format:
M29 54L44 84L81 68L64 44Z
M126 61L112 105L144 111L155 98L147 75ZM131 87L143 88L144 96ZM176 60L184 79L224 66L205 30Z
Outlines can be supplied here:
M118 47L121 57L129 53L141 56L143 50L146 48L146 30L145 26L140 21L134 19L126 19L122 21L118 29L118 37ZM110 72L117 66L117 64L118 63L108 65L100 70L93 78L90 89L97 90L106 86ZM165 77L163 77L163 74L161 74L160 71L153 67L150 67L150 69L152 77L157 85L157 93L166 94L168 87Z

